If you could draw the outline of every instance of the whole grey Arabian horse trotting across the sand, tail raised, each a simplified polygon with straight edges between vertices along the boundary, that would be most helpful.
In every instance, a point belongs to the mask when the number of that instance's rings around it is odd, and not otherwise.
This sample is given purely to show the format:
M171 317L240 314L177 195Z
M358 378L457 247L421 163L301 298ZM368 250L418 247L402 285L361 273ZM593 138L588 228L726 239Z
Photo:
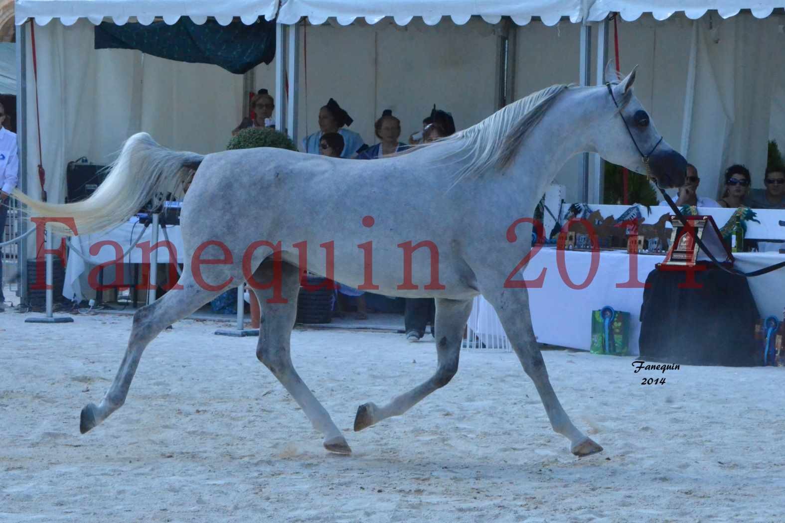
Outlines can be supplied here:
M351 452L290 358L305 256L309 271L326 275L333 251L335 281L389 296L436 298L436 372L386 405L361 405L354 430L400 416L451 380L472 299L482 294L534 381L553 430L570 440L576 456L600 452L562 409L537 347L528 293L516 284L531 248L531 220L520 218L531 216L564 162L582 151L647 173L662 187L681 186L685 159L662 141L633 96L634 78L633 72L612 85L554 85L447 139L375 162L266 148L202 156L169 151L140 133L126 141L107 180L84 202L49 205L15 192L32 212L71 217L86 233L128 219L181 183L184 167L198 166L181 215L190 260L179 280L183 289L134 314L114 382L99 405L82 409L82 433L123 404L142 352L159 332L248 279L263 307L257 358L324 434L325 448Z

